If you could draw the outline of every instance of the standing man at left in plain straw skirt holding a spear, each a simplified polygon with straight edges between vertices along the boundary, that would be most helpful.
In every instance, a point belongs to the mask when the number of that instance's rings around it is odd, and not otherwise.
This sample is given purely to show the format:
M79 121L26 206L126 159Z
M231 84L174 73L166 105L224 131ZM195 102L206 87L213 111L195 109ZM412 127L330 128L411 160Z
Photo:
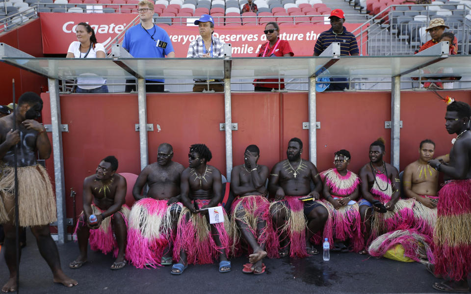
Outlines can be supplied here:
M17 289L13 168L15 145L18 155L20 232L24 227L31 228L41 256L51 267L55 283L67 287L78 284L62 271L57 246L49 230L49 224L57 220L55 195L46 169L36 162L36 155L39 159L48 159L51 156L51 143L46 129L35 120L40 117L42 108L43 101L39 95L26 92L18 100L16 121L13 113L0 118L0 223L5 231L3 251L10 271L8 282L1 288L2 292L15 292ZM13 131L15 124L16 131Z

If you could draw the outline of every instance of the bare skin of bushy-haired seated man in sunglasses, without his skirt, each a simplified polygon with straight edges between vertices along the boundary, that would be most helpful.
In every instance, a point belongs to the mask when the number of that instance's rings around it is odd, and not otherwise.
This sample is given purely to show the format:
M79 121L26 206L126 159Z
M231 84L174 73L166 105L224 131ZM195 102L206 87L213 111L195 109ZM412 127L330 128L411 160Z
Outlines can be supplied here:
M208 207L217 206L222 200L222 182L221 173L217 168L206 163L206 159L202 158L197 152L190 152L188 156L189 167L183 170L181 181L181 199L183 205L186 206L193 214L206 215L208 222ZM198 177L203 177L200 181ZM196 199L211 199L208 205L204 205L195 210L191 200ZM210 225L211 235L217 246L221 245L219 235L214 225ZM227 261L225 250L221 250L219 255L221 261ZM186 252L182 249L180 251L179 264L186 266ZM229 268L222 267L222 270ZM172 269L173 272L180 272L178 269Z

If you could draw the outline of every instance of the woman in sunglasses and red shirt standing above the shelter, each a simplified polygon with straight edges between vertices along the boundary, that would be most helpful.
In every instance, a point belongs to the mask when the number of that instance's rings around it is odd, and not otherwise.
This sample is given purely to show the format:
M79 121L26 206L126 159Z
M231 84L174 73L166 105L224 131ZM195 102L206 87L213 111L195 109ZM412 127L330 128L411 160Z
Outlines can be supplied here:
M265 30L263 31L266 35L267 42L262 45L260 48L257 57L280 57L280 56L293 56L294 53L289 46L288 41L281 40L279 37L280 34L280 27L275 22L270 22L266 24ZM268 80L261 80L255 79L255 82L278 82L278 79L268 79ZM285 84L283 83L285 80L281 79L280 88L284 89ZM275 83L255 83L255 91L271 91L272 88L278 88L278 84Z

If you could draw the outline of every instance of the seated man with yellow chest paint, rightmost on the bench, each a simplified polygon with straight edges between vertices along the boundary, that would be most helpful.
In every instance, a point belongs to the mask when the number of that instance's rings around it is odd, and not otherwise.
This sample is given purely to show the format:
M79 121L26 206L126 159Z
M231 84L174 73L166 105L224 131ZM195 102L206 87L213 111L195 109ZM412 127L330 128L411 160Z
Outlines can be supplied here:
M435 143L431 140L420 142L419 159L407 165L404 169L402 183L404 193L417 202L414 206L414 216L419 232L432 236L437 220L438 203L438 171L428 165L433 159Z

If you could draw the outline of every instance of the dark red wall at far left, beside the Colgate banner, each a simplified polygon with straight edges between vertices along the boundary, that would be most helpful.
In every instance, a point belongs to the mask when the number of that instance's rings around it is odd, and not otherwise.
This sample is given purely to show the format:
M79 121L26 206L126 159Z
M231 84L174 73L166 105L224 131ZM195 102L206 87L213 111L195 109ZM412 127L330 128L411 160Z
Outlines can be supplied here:
M35 57L43 57L41 23L38 19L32 20L27 24L18 27L12 31L0 35L0 42L15 47ZM36 74L19 69L9 64L0 62L0 72L7 79L0 80L0 105L6 105L12 102L13 91L11 79L15 79L16 99L24 92L33 91L36 93L47 91L48 80Z

